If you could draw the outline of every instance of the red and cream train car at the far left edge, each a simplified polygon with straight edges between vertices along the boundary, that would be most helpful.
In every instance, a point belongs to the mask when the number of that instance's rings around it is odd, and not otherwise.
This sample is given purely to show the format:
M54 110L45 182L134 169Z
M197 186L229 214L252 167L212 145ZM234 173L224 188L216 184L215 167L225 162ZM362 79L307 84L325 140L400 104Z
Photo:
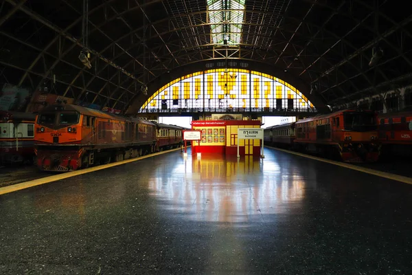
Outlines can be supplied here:
M0 111L0 164L32 162L36 115Z

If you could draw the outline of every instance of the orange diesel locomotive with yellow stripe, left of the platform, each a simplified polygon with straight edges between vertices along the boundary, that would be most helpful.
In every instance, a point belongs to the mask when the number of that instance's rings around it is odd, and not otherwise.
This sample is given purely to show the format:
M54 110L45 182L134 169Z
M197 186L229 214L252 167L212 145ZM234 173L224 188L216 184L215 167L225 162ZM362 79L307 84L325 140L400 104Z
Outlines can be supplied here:
M43 108L35 130L36 164L41 170L77 170L157 149L152 122L72 104Z

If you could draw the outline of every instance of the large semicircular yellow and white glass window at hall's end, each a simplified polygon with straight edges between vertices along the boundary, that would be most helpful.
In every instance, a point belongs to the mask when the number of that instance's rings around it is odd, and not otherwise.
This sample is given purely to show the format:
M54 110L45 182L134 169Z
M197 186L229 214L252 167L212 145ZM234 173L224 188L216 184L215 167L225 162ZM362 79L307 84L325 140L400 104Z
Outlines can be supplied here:
M209 69L182 76L161 87L141 111L264 111L307 109L312 103L300 91L279 78L247 69Z

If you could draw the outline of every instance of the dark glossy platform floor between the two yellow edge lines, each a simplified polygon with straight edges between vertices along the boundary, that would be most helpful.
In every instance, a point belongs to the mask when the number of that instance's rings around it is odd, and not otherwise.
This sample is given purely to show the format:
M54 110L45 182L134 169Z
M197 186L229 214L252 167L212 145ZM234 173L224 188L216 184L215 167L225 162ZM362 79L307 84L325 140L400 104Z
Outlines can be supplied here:
M265 148L0 196L0 274L412 274L412 186Z

